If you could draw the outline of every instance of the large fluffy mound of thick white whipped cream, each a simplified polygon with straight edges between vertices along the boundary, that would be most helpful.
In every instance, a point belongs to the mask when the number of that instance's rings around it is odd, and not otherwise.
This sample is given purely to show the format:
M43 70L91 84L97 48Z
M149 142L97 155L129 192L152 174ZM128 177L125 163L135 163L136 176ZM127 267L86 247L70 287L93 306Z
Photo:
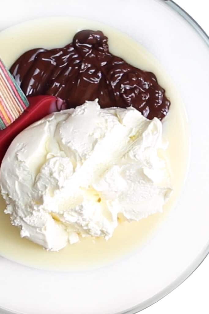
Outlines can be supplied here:
M162 123L98 100L32 124L0 169L6 214L26 237L58 251L93 236L109 239L123 220L162 212L171 193L160 154Z

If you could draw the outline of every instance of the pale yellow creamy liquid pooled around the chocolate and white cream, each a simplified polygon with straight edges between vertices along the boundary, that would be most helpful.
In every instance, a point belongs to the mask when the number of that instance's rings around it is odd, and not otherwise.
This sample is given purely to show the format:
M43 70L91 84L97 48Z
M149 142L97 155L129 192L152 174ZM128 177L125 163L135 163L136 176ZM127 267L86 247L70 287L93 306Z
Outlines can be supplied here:
M51 18L31 21L0 33L0 57L9 67L15 59L31 48L53 48L72 41L82 29L102 30L109 38L110 51L136 67L152 71L171 100L168 116L163 122L164 137L169 140L166 159L170 165L174 192L164 206L163 214L154 214L138 222L118 225L112 238L83 238L60 252L47 252L41 246L22 239L19 230L3 213L5 203L0 198L0 255L25 265L51 270L80 270L100 267L140 250L159 230L182 189L189 156L189 140L184 106L165 71L153 56L130 37L96 22L74 18ZM114 104L112 104L114 106Z

